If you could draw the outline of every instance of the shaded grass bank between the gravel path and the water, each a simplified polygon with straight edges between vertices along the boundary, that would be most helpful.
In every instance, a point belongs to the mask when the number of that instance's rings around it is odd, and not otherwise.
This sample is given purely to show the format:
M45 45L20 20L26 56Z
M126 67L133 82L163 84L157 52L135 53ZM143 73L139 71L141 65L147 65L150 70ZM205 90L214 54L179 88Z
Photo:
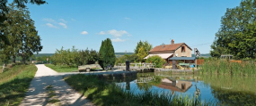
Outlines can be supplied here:
M95 105L99 106L188 106L214 105L211 102L202 102L199 98L178 96L172 94L154 94L145 92L133 94L121 89L113 83L104 82L94 76L73 75L65 77L68 85L87 96Z

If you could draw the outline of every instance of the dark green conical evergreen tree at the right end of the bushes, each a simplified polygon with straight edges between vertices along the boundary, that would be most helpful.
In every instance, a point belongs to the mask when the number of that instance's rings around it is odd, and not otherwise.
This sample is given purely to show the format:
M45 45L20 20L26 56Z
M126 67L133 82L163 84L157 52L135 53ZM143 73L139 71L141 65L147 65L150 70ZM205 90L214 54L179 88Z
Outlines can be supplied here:
M99 55L100 55L99 63L102 69L105 69L108 65L111 65L112 67L114 66L116 61L116 56L115 56L115 50L110 38L107 38L102 41Z

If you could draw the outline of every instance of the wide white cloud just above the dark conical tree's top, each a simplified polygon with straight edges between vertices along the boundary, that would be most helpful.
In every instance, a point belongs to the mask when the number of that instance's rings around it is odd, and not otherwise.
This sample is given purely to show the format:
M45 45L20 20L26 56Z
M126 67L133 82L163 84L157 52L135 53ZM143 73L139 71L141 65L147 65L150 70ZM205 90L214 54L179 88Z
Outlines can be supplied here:
M99 33L100 35L112 35L114 37L122 37L123 35L128 35L128 32L126 30L116 30L116 29L111 29L108 31L101 31Z

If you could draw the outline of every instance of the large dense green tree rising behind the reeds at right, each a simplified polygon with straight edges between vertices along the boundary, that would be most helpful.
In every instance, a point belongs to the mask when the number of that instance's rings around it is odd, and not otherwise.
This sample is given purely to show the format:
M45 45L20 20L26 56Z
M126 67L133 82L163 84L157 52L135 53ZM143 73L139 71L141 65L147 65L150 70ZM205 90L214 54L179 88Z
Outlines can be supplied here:
M239 6L227 9L221 28L211 45L211 56L231 53L237 58L256 56L256 1L243 0Z

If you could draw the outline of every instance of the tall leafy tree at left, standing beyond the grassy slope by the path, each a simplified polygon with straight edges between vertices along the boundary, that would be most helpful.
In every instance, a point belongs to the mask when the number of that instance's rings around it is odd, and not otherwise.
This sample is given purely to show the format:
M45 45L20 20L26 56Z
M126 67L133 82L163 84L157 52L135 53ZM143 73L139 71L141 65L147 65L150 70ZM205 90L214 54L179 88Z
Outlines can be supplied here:
M33 53L41 51L40 36L27 8L16 9L16 6L11 4L8 10L9 12L5 14L8 20L4 21L4 34L10 45L4 49L12 55L13 62L16 56L22 56L22 62L25 63Z

